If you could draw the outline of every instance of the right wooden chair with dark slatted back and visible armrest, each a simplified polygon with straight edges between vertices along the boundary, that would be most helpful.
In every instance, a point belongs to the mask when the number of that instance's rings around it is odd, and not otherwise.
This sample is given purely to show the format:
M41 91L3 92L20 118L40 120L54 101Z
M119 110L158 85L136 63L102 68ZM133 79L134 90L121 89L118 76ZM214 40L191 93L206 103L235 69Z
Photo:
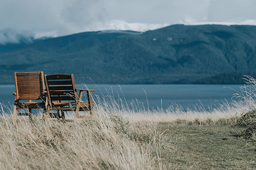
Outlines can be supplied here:
M77 118L83 117L79 116L79 111L89 111L92 114L94 101L91 100L90 91L95 90L76 88L73 74L44 75L44 79L49 101L46 117L66 121L64 111L75 111ZM77 96L77 91L80 91L79 96ZM87 92L88 102L81 101L83 91Z

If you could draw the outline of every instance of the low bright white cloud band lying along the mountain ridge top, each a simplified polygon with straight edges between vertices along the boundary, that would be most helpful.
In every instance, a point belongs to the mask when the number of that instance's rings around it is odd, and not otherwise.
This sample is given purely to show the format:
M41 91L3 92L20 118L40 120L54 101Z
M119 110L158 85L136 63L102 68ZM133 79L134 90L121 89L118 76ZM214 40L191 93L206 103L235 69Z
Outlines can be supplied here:
M195 20L183 20L175 24L184 25L204 25L204 24L218 24L218 25L256 25L254 19L236 19L228 20L226 22L195 22ZM0 44L5 45L7 43L19 44L22 40L28 44L35 39L43 37L59 37L65 35L72 35L74 33L88 32L88 31L106 31L106 30L121 30L121 31L138 31L146 32L154 29L167 27L172 24L147 24L147 23L127 23L123 20L110 20L106 22L95 22L90 25L84 25L84 27L76 27L74 25L66 25L64 32L56 30L46 30L43 32L32 31L17 31L14 29L6 28L0 30Z

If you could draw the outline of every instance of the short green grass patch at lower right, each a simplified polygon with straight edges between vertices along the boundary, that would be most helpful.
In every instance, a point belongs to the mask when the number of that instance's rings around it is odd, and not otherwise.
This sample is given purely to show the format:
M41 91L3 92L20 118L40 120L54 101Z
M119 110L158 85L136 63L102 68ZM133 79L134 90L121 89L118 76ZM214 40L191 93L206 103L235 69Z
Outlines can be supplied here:
M172 140L163 150L166 169L256 169L255 142L241 136L244 127L229 124L158 124Z

